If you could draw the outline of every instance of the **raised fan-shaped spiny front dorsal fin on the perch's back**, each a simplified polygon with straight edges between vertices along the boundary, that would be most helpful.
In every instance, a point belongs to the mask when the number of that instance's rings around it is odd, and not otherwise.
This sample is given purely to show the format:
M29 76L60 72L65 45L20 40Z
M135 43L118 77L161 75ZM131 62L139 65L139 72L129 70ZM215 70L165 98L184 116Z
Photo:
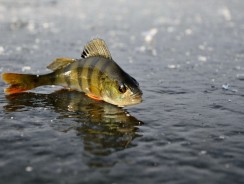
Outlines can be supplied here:
M88 58L91 56L101 56L107 59L112 59L105 41L100 38L93 39L85 45L81 57Z

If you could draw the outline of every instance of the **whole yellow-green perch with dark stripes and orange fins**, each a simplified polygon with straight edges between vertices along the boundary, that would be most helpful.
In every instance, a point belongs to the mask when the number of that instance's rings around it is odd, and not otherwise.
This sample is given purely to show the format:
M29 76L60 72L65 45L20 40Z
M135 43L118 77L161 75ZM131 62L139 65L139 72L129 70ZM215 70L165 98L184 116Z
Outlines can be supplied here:
M47 68L52 72L43 75L3 73L3 81L10 85L4 92L15 94L39 86L58 85L119 107L142 102L139 83L113 60L100 38L84 46L81 58L57 58Z

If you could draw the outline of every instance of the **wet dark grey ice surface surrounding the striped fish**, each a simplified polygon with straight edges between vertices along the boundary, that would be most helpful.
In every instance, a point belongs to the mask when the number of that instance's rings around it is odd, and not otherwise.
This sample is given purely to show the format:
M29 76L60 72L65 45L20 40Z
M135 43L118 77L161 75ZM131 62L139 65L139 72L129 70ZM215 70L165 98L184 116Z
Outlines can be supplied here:
M3 183L243 183L244 3L0 3L0 71L47 73L101 37L144 102L0 95ZM5 85L1 81L3 91ZM56 92L55 92L56 91Z

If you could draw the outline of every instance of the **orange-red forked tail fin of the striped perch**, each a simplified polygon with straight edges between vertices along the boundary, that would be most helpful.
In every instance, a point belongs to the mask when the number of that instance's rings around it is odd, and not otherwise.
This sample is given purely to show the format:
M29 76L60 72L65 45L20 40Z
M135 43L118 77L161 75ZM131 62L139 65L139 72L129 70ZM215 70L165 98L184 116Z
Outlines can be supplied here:
M3 73L2 79L5 83L10 84L10 86L4 90L7 94L20 93L39 86L38 76L36 75Z

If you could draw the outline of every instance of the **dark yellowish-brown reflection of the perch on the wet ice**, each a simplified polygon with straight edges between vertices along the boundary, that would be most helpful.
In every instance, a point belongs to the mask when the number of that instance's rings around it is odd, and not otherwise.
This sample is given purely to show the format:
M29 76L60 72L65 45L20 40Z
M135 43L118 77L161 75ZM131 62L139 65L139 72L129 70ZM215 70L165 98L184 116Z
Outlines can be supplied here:
M48 124L55 130L66 132L76 130L81 137L85 151L96 156L106 156L114 151L135 146L132 141L141 136L138 126L143 124L123 108L88 98L78 91L59 90L51 94L18 93L6 96L6 112L26 112L32 108L45 108L50 113L46 118L53 119L52 109L57 112L54 121ZM48 111L49 109L49 111ZM43 114L38 113L41 117ZM38 117L37 117L38 118ZM96 158L96 157L95 157ZM90 165L107 166L115 161L91 160Z

